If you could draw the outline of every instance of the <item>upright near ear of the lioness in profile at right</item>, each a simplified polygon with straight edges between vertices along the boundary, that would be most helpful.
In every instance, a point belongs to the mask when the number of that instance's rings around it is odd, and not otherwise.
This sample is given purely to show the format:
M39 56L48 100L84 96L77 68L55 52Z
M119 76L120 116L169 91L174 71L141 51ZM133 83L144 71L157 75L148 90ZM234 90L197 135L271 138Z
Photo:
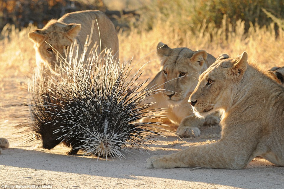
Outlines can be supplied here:
M244 51L243 54L236 57L234 60L234 65L229 68L229 76L232 77L233 80L240 80L244 72L247 70L247 52Z

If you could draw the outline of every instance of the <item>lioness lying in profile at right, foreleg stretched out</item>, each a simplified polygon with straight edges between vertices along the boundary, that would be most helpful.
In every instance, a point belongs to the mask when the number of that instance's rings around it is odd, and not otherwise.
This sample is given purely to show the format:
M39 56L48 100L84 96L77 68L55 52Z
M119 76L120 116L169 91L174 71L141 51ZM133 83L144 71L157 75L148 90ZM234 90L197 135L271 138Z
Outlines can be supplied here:
M189 98L199 117L219 111L221 140L147 159L149 168L242 169L262 156L284 166L284 88L247 61L220 55L199 77Z

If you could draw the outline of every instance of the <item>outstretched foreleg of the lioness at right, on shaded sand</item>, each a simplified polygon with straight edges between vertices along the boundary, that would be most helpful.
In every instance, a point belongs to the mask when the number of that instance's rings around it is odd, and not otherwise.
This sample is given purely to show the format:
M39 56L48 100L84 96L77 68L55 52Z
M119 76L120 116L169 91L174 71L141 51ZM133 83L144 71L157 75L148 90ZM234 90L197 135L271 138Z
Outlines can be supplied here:
M238 150L236 150L238 149ZM147 159L148 168L203 167L218 169L242 169L253 157L249 150L230 141L191 146L185 150L165 156Z

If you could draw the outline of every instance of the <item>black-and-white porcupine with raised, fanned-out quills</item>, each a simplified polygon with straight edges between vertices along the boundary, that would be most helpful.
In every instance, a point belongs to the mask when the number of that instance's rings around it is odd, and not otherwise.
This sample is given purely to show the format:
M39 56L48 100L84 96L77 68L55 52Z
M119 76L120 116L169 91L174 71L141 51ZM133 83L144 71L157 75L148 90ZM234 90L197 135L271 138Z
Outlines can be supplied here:
M47 140L49 148L63 141L73 147L69 154L81 149L98 158L121 158L124 155L120 150L127 144L138 148L155 141L160 133L154 125L161 125L158 119L162 117L155 113L164 109L149 110L152 103L143 104L156 91L142 88L146 81L138 82L141 74L130 76L130 63L128 67L126 63L117 64L107 51L104 64L97 57L93 54L89 62L63 61L61 80L51 77L50 82L45 82L49 83L46 94L36 97L43 103L32 106L31 112L35 116L38 112L48 113L43 119L37 117L43 120L37 125L41 131L47 126L53 131L56 142ZM157 122L140 123L142 118Z

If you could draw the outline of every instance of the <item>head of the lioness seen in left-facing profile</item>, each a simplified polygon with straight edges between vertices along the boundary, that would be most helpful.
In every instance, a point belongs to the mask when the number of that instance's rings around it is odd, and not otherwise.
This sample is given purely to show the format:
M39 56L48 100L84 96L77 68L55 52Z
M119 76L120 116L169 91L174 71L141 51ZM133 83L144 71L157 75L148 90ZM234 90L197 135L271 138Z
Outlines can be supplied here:
M233 59L228 54L220 55L200 77L189 98L192 109L199 117L226 109L232 101L234 89L247 69L247 52Z

